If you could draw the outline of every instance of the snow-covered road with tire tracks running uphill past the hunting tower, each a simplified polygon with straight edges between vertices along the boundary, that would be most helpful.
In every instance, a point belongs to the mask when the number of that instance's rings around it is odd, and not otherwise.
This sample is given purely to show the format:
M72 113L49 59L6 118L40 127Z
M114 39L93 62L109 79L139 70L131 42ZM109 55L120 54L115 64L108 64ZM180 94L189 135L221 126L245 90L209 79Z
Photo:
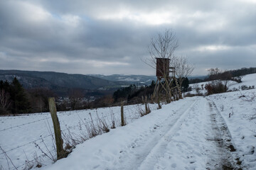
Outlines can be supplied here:
M163 106L43 169L238 169L228 126L203 97Z

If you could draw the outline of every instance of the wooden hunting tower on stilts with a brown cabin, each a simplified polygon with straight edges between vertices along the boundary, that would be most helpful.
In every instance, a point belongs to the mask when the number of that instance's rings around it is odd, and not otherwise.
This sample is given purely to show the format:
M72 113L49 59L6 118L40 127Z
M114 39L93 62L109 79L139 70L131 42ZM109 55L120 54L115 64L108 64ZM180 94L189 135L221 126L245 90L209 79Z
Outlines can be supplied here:
M171 101L172 98L174 100L182 98L181 88L175 75L175 67L170 67L169 58L156 58L156 77L153 98L163 94L166 96L167 101Z

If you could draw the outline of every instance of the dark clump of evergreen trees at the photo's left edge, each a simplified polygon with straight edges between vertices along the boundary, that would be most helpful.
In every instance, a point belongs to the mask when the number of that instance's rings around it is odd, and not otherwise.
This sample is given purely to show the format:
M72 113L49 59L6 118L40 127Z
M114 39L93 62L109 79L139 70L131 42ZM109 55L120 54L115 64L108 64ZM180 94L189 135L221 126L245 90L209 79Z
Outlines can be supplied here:
M23 89L16 77L9 83L0 81L0 114L35 113L48 111L48 89Z

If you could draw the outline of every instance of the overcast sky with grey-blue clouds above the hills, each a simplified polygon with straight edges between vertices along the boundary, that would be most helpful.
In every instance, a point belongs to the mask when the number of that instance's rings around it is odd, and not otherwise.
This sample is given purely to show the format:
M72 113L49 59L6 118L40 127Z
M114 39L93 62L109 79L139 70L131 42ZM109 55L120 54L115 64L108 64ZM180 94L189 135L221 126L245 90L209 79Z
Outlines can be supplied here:
M151 38L206 69L256 67L256 0L0 0L0 69L146 74Z

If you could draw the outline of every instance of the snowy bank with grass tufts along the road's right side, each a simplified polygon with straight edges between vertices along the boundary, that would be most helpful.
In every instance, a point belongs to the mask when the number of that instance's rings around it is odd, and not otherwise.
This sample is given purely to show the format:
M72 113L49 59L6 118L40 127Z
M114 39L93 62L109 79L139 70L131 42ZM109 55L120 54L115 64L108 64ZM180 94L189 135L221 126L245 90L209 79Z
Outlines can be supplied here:
M247 99L241 97L242 95L255 98L252 101L246 101ZM238 154L240 154L240 160L248 168L256 169L256 90L235 91L211 95L208 98L215 101L218 110L223 115Z

